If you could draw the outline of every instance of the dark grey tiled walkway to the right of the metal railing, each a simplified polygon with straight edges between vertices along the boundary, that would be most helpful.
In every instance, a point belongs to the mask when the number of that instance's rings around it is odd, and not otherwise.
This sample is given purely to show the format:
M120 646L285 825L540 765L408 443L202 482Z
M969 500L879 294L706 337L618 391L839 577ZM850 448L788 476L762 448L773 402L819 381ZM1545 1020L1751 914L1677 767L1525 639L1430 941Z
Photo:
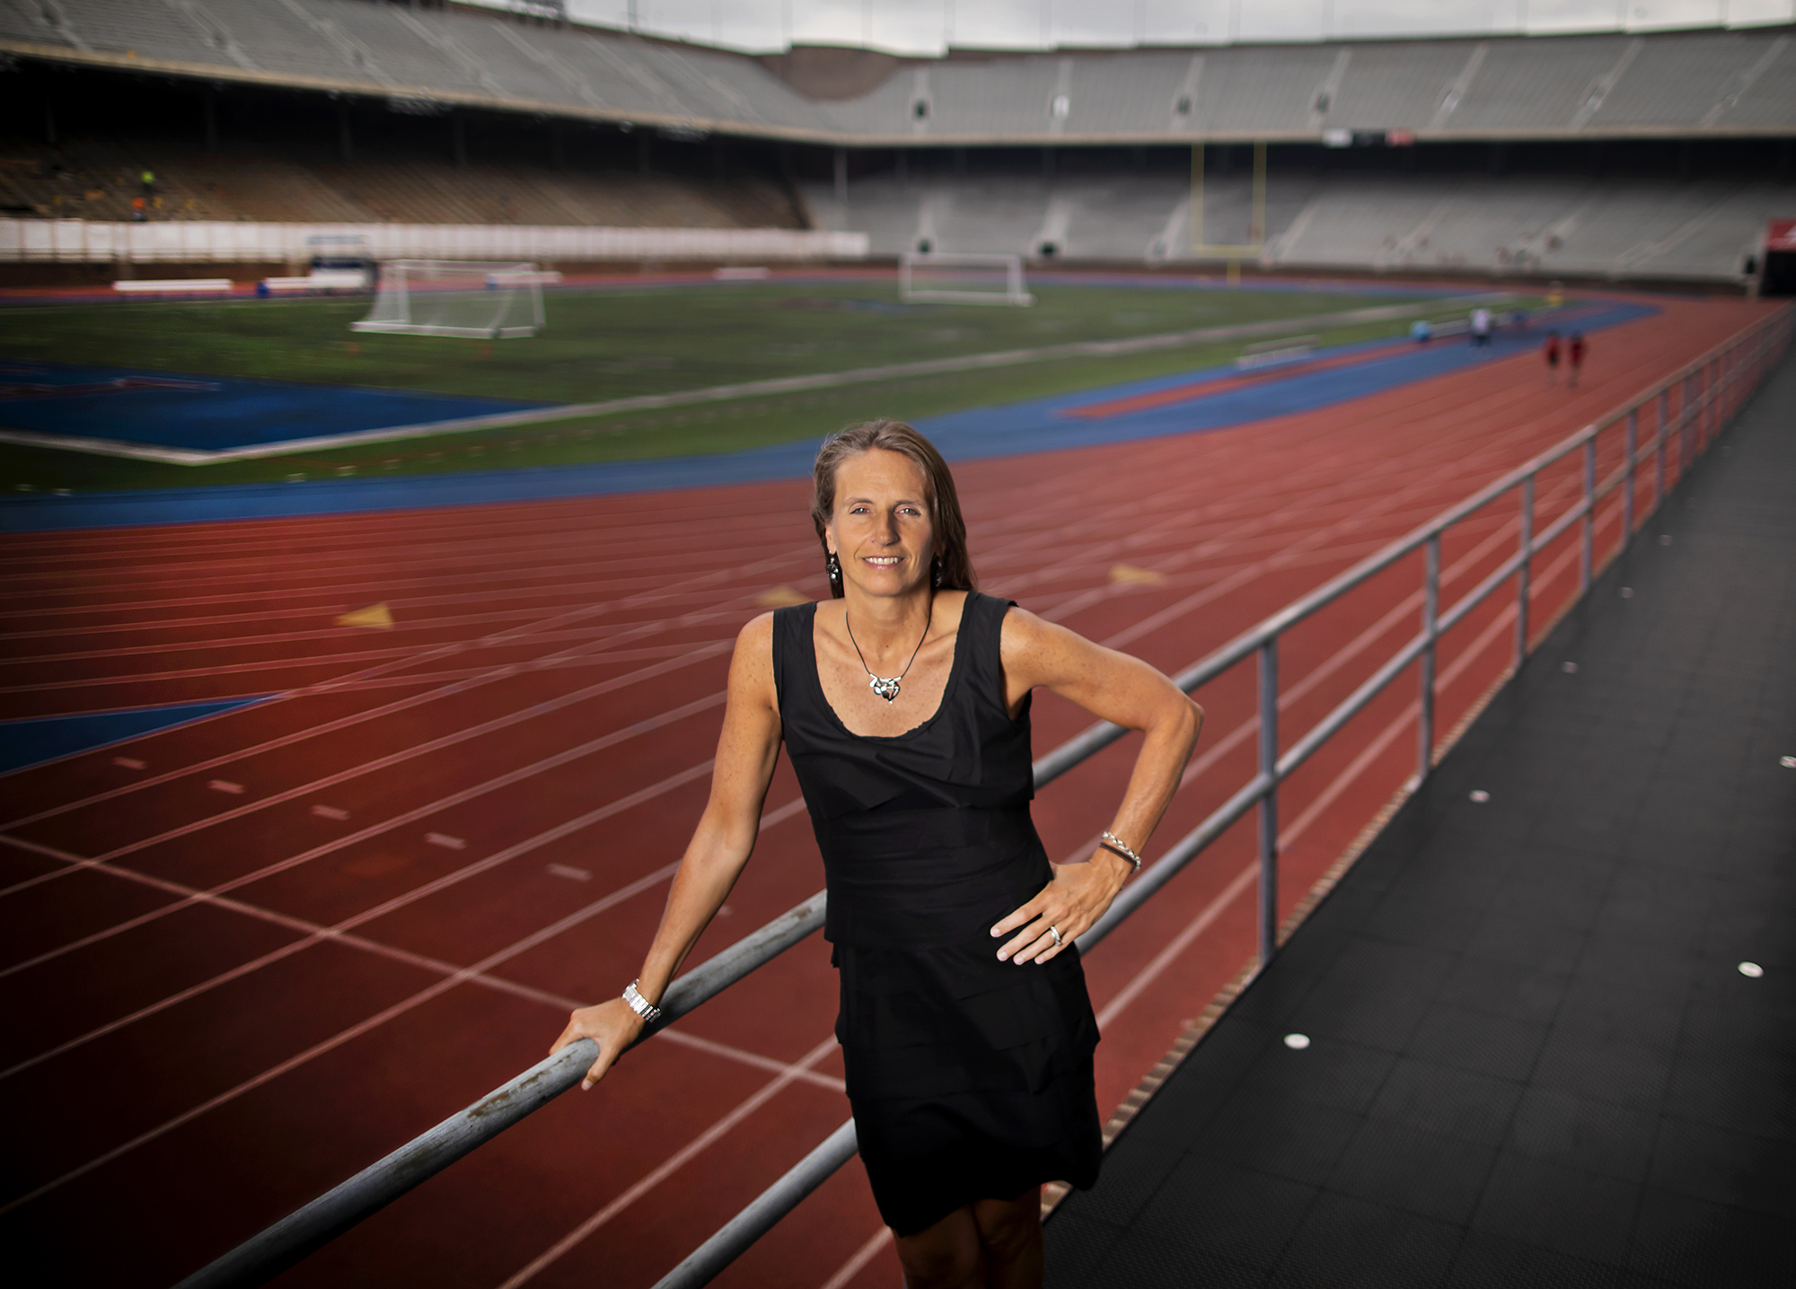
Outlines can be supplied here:
M1796 363L1049 1219L1051 1289L1796 1285L1785 756Z

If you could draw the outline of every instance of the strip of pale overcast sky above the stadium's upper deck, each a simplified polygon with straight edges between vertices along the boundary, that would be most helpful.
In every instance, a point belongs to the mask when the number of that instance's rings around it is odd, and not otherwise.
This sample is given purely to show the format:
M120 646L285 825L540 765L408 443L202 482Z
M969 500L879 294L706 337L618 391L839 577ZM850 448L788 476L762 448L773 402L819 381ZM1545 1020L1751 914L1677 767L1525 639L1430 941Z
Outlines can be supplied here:
M505 0L496 0L505 4ZM575 18L623 27L630 0L568 0ZM869 45L1191 45L1329 36L1658 31L1791 22L1796 0L636 0L659 36L749 50Z

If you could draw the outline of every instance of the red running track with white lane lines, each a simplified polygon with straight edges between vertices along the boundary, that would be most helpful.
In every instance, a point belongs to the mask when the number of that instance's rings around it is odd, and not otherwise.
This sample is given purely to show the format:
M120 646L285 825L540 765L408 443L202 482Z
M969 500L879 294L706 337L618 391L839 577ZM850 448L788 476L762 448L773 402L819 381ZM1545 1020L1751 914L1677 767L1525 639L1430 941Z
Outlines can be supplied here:
M1765 312L1661 300L1584 386L1491 361L1230 431L959 467L988 591L1180 668ZM1607 469L1607 465L1604 467ZM1541 512L1575 495L1543 479ZM1645 495L1645 494L1642 494ZM1598 537L1613 544L1615 506ZM1448 601L1514 548L1446 542ZM776 589L824 592L806 487L7 539L4 715L277 693L7 776L0 1237L43 1284L162 1285L535 1061L641 959L702 806L727 650ZM1117 580L1115 566L1146 571ZM1536 621L1575 591L1570 539ZM1415 567L1291 632L1284 740L1415 628ZM345 628L386 603L390 630ZM1509 664L1505 596L1442 650L1440 729ZM1153 853L1252 774L1252 670ZM1036 750L1088 718L1045 698ZM1282 795L1284 908L1413 763L1399 682ZM1078 856L1114 750L1036 804ZM1245 828L1088 962L1117 1104L1254 948ZM695 962L821 885L790 772ZM648 1285L846 1117L814 939L478 1151L282 1284ZM858 1165L718 1284L889 1285Z

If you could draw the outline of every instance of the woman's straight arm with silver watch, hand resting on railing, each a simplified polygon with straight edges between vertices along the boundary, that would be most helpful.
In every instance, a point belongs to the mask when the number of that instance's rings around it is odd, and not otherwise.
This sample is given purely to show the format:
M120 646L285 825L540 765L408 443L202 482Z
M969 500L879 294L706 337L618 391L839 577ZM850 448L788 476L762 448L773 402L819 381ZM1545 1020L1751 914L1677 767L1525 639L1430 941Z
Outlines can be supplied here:
M674 887L661 912L661 928L643 960L638 989L648 1002L661 1002L679 964L691 953L691 946L724 905L754 851L762 801L767 797L767 785L779 756L779 697L774 688L772 641L772 614L762 614L736 636L736 653L729 662L724 734L717 741L717 761L711 767L711 799L674 874ZM636 1041L643 1023L621 996L594 1007L580 1007L555 1039L550 1056L577 1039L594 1039L598 1059L580 1081L582 1088L591 1088L605 1077L605 1070L623 1048Z

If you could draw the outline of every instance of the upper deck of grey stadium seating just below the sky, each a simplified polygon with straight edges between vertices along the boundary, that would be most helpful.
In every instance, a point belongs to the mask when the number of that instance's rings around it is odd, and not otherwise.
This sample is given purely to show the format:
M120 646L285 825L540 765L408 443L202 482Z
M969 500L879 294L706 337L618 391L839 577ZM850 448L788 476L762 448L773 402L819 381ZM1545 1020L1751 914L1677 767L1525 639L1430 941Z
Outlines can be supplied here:
M753 57L372 0L0 4L0 52L848 147L1796 135L1792 29Z

